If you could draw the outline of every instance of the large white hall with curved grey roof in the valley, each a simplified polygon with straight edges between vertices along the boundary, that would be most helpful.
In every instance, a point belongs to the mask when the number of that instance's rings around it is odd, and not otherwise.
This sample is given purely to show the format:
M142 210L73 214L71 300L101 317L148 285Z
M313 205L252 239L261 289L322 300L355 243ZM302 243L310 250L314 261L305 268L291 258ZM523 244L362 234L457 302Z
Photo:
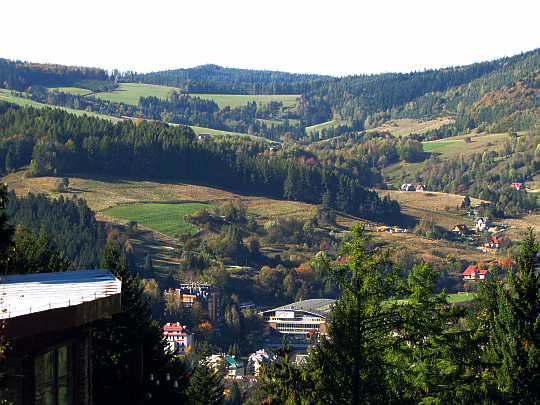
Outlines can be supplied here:
M299 339L326 335L326 321L330 316L332 299L298 301L259 313L263 322L279 333Z

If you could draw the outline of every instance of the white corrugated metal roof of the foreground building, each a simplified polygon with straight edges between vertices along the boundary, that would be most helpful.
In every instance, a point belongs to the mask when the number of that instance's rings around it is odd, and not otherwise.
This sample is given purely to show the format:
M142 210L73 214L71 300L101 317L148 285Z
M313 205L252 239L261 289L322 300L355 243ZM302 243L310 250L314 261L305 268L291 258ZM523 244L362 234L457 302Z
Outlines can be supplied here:
M0 319L120 294L122 282L109 270L83 270L0 277Z

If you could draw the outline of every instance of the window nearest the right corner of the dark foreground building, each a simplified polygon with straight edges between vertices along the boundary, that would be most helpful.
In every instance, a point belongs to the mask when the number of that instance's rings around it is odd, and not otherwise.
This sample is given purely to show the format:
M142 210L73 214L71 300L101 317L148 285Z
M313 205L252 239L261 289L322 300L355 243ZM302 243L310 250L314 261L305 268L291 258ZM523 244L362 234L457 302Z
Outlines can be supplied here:
M73 345L45 353L45 404L73 404Z

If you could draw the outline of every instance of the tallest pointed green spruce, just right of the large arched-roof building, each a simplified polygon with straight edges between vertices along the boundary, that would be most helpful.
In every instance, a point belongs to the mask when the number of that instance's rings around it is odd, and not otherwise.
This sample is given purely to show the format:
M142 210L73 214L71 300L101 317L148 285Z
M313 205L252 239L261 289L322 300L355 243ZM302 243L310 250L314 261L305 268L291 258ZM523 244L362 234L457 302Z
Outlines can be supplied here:
M352 239L340 251L343 262L335 267L320 257L320 264L341 290L332 308L329 339L315 346L311 366L328 403L388 403L387 362L394 319L384 304L404 292L399 268L390 261L391 251L368 247L364 227L352 228Z

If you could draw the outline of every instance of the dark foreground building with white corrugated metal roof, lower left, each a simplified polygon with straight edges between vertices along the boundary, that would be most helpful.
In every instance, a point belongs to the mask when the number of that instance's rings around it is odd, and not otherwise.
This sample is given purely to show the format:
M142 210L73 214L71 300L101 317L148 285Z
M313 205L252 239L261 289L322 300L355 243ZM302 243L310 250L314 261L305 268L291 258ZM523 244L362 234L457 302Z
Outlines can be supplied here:
M0 279L11 367L0 399L92 404L92 322L120 311L121 281L104 269Z

